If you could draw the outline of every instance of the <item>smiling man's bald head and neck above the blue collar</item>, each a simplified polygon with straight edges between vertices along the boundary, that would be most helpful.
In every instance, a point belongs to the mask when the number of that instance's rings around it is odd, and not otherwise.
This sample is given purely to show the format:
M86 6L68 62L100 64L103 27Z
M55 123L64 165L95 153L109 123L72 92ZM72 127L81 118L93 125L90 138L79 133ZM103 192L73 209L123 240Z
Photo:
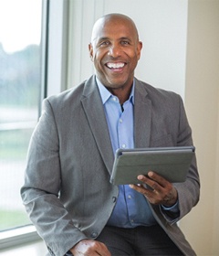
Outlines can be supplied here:
M89 54L97 77L110 91L130 91L141 47L137 29L129 17L108 15L96 22Z

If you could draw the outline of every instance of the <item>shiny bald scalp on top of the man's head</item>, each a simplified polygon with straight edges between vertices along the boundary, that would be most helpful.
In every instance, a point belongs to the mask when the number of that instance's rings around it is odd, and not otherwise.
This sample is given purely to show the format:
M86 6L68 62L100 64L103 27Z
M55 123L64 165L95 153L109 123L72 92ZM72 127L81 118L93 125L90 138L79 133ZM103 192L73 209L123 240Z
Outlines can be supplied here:
M108 14L100 17L94 24L91 36L91 43L95 41L97 37L99 37L99 34L106 25L110 24L110 26L115 27L116 29L117 25L120 23L122 23L126 27L129 27L130 30L133 32L133 37L135 37L137 41L139 40L137 27L129 16L121 14Z

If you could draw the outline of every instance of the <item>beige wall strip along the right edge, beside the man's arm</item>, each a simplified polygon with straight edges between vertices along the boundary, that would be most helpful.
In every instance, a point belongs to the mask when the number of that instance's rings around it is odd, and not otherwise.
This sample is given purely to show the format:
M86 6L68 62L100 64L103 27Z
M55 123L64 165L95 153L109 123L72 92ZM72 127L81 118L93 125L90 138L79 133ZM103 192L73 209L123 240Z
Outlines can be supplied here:
M201 200L181 227L198 255L219 255L219 1L189 1L185 106L193 127Z

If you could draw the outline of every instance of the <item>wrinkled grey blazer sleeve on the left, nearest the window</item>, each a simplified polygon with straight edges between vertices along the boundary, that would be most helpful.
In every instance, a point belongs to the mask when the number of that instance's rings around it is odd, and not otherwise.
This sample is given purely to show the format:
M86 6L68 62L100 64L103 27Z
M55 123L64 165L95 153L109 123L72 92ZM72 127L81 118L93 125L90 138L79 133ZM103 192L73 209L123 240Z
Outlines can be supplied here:
M29 218L47 243L48 251L52 255L63 256L79 240L87 237L74 226L67 209L58 199L58 149L56 120L49 101L45 100L44 111L29 145L21 196Z

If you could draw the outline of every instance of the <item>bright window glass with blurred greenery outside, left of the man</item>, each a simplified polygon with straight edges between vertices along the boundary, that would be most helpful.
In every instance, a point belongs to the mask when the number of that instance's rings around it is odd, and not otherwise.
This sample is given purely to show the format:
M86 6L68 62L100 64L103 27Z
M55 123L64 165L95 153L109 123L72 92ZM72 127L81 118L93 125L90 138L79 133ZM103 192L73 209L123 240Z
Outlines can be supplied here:
M20 198L40 103L40 0L0 0L0 230L29 224Z

